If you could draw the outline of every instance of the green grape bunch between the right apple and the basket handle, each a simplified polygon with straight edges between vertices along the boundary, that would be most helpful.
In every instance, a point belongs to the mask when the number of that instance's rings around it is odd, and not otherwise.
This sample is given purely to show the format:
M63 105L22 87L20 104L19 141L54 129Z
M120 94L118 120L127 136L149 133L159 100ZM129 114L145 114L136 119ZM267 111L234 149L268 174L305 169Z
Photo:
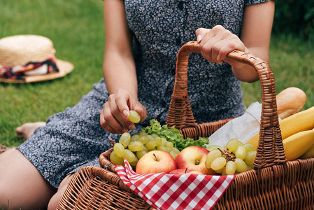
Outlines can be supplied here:
M256 151L252 144L243 144L238 139L231 139L223 149L217 146L210 151L205 165L219 174L232 175L252 169L255 157Z

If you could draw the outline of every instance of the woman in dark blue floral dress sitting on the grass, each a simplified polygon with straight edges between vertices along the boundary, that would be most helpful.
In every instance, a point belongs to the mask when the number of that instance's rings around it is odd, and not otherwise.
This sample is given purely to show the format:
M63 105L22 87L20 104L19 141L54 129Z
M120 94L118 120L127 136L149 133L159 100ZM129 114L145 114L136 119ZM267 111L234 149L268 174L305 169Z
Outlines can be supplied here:
M6 207L9 199L13 209L55 209L71 174L98 165L109 137L138 132L152 118L164 124L176 54L187 41L201 46L201 55L190 56L188 73L197 123L241 116L240 81L258 76L226 55L238 49L268 61L273 13L274 2L267 0L104 1L104 80L17 150L0 155L6 172L0 174L0 204ZM141 116L136 127L129 110Z

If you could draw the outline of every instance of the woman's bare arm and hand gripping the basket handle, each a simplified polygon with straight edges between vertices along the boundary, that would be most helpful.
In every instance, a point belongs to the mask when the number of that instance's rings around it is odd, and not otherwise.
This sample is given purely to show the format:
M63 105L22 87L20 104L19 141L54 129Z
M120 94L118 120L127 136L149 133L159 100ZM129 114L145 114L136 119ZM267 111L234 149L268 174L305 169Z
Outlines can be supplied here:
M273 1L245 6L240 38L222 26L197 29L197 40L200 42L202 55L210 62L221 63L223 60L229 63L238 80L245 82L258 80L258 75L252 66L231 61L226 56L237 49L268 62L274 10Z

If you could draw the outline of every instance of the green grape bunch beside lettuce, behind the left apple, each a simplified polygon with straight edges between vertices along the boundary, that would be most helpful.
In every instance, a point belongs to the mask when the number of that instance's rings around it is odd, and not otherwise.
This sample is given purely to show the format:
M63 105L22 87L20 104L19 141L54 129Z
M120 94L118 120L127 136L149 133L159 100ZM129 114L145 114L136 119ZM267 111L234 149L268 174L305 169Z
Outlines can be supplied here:
M127 159L131 166L136 166L138 160L149 151L166 151L173 158L176 158L180 152L173 147L173 143L167 141L164 137L159 137L157 134L147 134L140 132L131 136L129 132L124 132L119 143L113 146L113 152L110 154L110 161L115 165L124 165L123 160Z

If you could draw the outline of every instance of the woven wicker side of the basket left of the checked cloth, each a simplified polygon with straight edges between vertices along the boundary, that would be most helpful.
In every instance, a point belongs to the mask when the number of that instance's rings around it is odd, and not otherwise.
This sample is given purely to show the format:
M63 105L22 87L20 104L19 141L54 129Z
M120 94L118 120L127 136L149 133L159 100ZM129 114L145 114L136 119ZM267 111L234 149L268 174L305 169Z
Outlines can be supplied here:
M57 209L150 209L117 174L100 167L83 167L69 182Z

